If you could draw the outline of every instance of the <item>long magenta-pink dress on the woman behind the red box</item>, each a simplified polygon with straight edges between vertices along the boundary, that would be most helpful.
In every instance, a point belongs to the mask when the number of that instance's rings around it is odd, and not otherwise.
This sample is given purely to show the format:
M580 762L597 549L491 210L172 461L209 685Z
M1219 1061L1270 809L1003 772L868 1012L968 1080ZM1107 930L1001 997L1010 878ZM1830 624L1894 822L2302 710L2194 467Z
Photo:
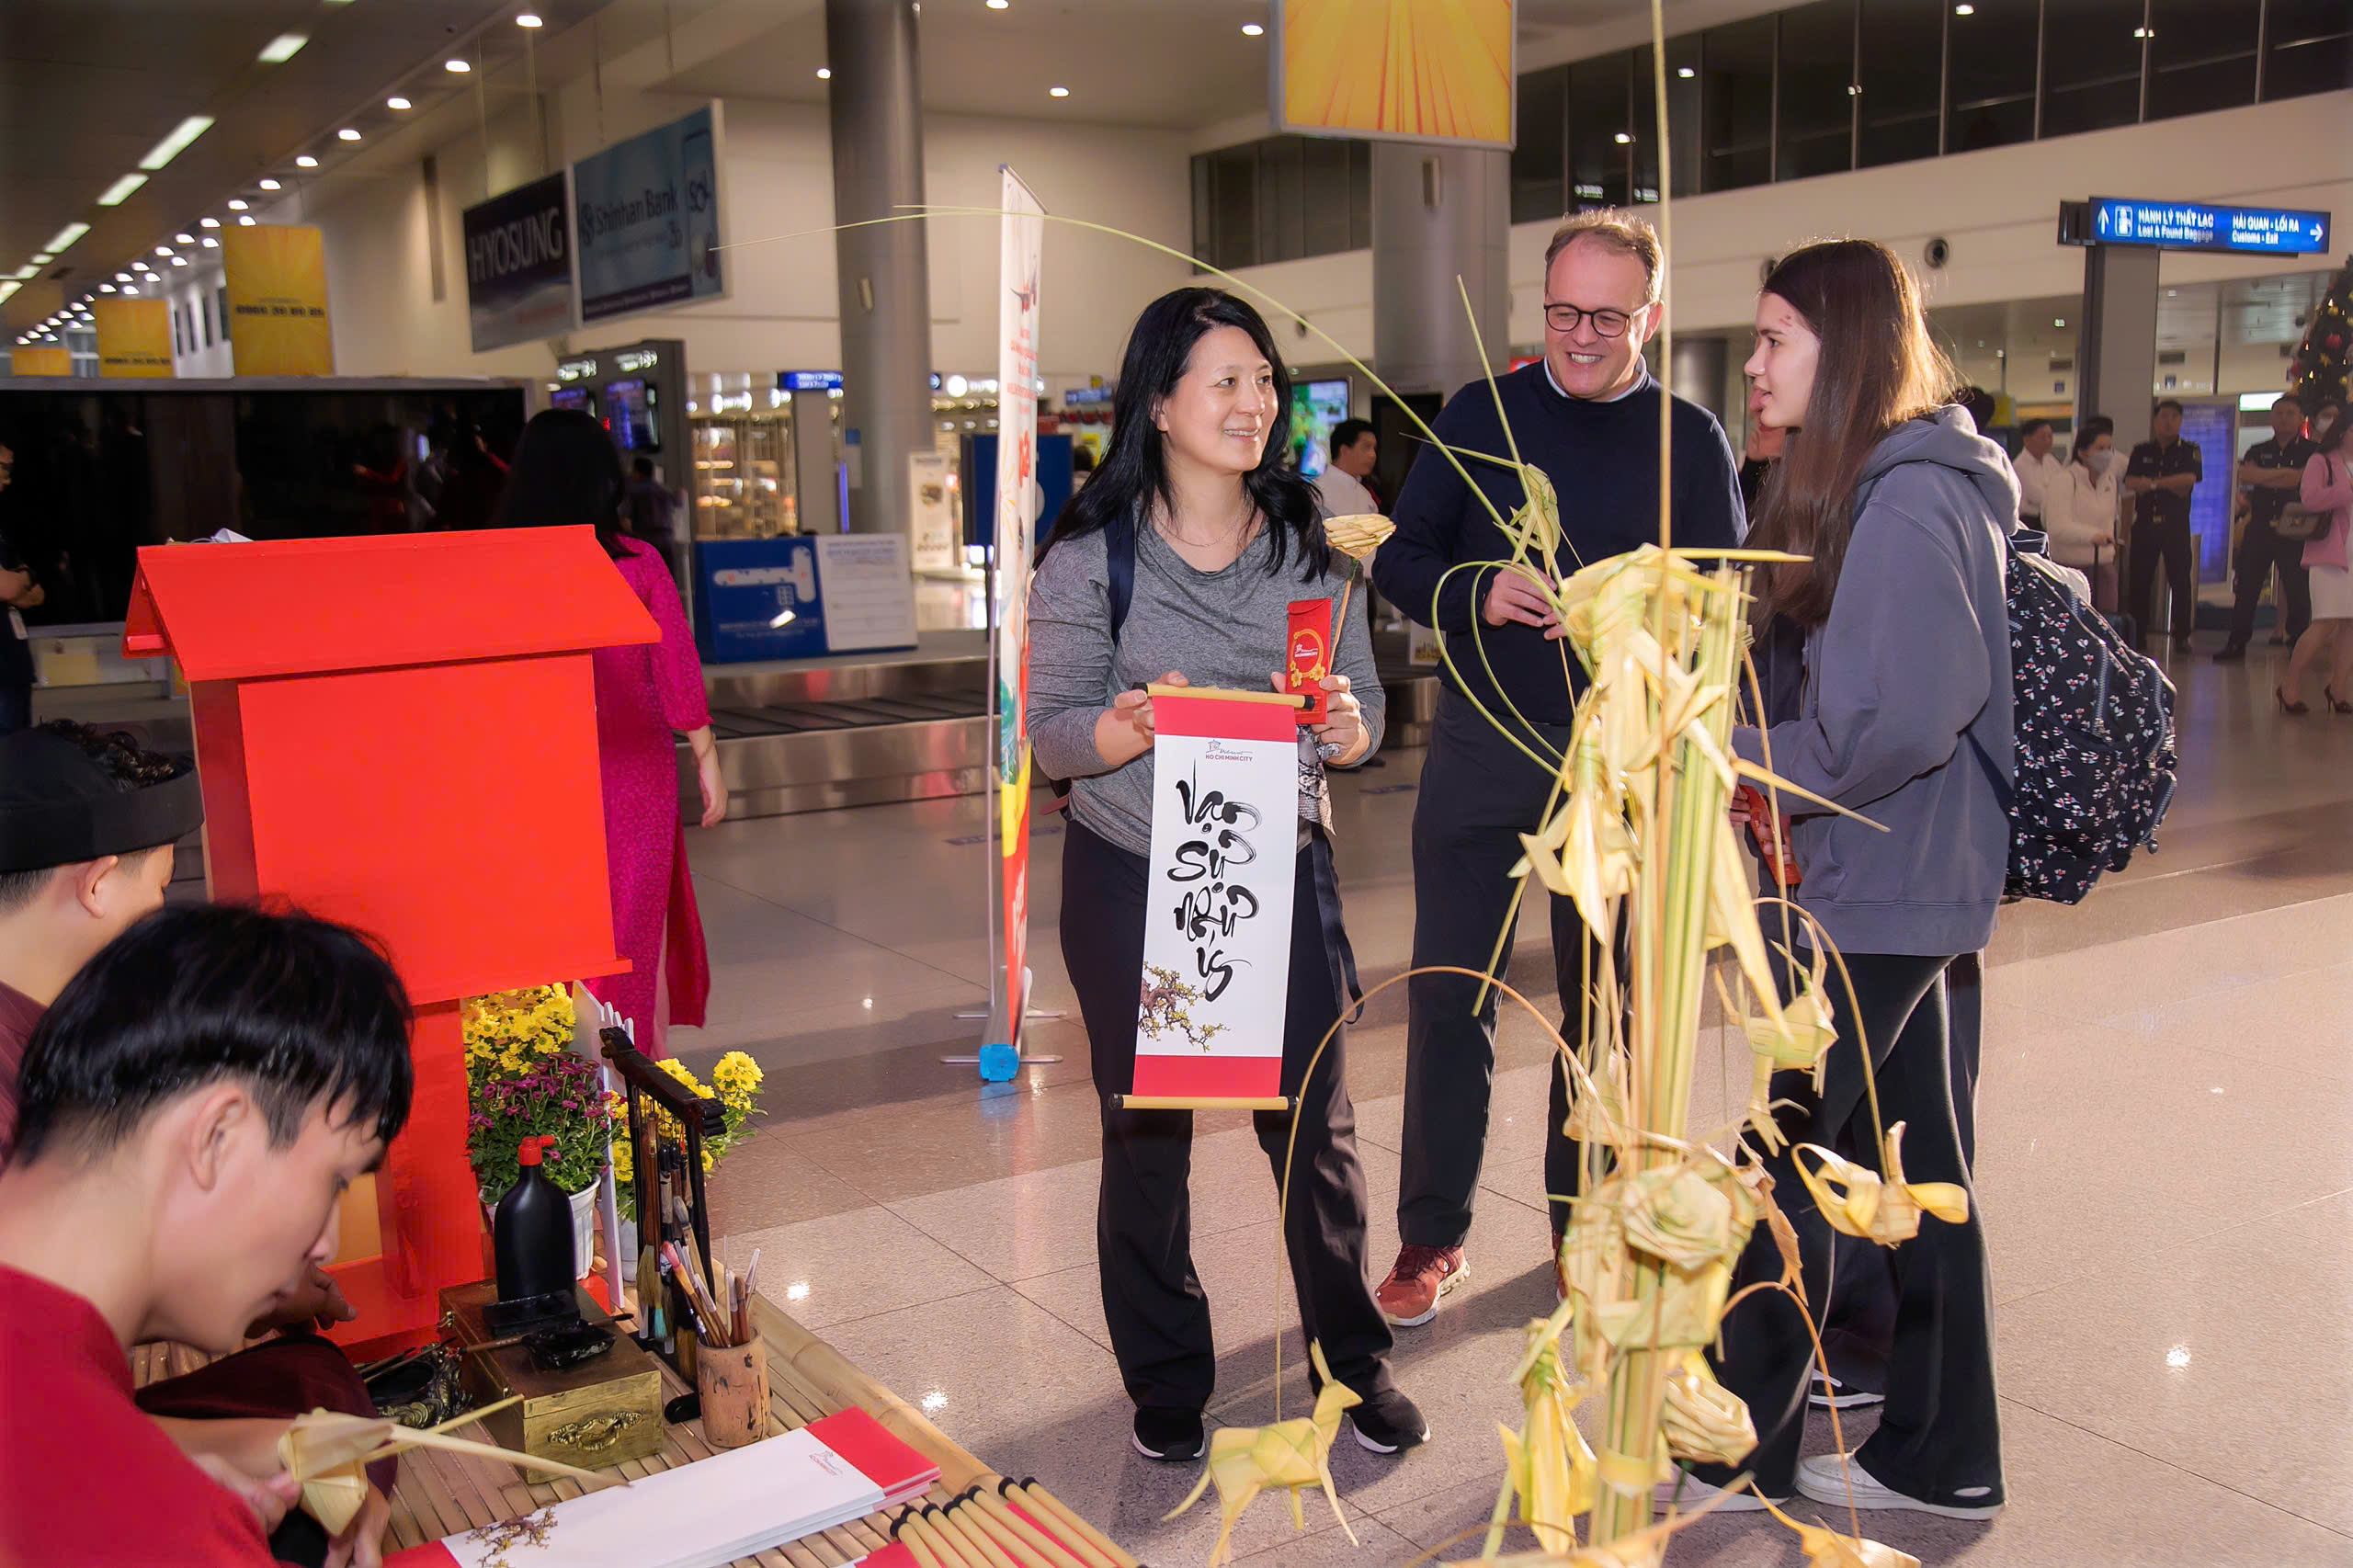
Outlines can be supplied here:
M711 723L704 664L678 586L649 546L624 539L614 560L661 626L659 643L598 647L595 730L605 763L605 857L612 932L628 975L591 979L598 1001L638 1024L638 1048L668 1055L666 1022L699 1026L711 998L704 918L687 878L687 831L678 817L678 730ZM671 1019L656 1015L656 965L666 965Z

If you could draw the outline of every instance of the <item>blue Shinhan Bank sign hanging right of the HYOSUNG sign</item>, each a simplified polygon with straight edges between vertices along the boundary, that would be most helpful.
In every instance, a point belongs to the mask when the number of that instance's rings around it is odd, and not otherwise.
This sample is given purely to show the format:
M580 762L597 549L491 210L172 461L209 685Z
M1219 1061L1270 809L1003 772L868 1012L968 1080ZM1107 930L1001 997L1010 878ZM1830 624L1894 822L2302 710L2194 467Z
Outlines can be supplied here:
M581 323L722 299L720 108L572 165Z

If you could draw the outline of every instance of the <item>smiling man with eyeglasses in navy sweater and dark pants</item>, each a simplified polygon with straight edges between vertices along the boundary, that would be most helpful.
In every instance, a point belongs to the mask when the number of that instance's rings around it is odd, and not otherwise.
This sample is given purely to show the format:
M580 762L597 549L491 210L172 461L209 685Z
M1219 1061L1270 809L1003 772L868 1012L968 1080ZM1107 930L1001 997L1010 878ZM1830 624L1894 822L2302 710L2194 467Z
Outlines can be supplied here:
M1553 233L1544 259L1544 358L1497 379L1520 459L1560 492L1562 544L1551 572L1659 542L1659 398L1642 344L1661 315L1659 233L1628 212L1584 212ZM1511 454L1497 396L1485 381L1438 414L1452 447ZM1487 970L1511 911L1511 866L1553 789L1551 763L1569 739L1584 671L1567 650L1546 591L1525 574L1464 563L1511 558L1494 516L1525 504L1508 469L1424 450L1398 494L1398 532L1372 563L1381 596L1447 643L1452 671L1438 699L1421 796L1414 808L1414 968ZM1741 537L1739 464L1715 417L1673 400L1673 544L1729 549ZM1489 673L1492 671L1492 673ZM1487 713L1480 713L1485 709ZM1513 718L1518 711L1525 723ZM1497 723L1513 735L1501 735ZM1522 751L1522 746L1527 751ZM1588 946L1569 899L1553 899L1553 970L1562 1010L1584 1015ZM1508 968L1511 944L1501 949ZM1497 998L1459 975L1409 982L1405 1036L1405 1149L1398 1187L1398 1262L1379 1288L1391 1323L1428 1323L1466 1276L1464 1241L1487 1149ZM1579 1022L1562 1034L1577 1038ZM1577 1191L1577 1144L1562 1132L1567 1081L1553 1062L1544 1191ZM1553 1205L1553 1253L1567 1224Z

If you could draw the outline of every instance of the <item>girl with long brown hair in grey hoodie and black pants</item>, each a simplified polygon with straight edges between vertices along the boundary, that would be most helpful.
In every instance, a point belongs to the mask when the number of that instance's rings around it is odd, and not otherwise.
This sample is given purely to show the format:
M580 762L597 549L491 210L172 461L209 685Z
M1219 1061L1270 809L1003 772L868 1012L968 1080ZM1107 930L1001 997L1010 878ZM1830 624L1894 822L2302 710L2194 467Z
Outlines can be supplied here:
M1737 730L1734 746L1868 817L1795 800L1795 899L1838 944L1852 989L1831 982L1840 1038L1821 1090L1784 1074L1774 1095L1791 1102L1791 1144L1847 1149L1878 1165L1882 1123L1906 1123L1906 1180L1967 1189L1960 1116L1969 1090L1948 1064L1944 972L1993 935L2009 857L2002 574L2019 487L1969 414L1944 407L1955 377L1885 245L1826 240L1793 252L1765 280L1755 330L1746 370L1762 396L1760 419L1791 440L1748 542L1807 558L1762 577L1758 624L1781 614L1805 631L1805 685L1795 718ZM1828 1314L1833 1231L1788 1147L1765 1165L1798 1229L1807 1300ZM1758 1227L1744 1274L1779 1271ZM1774 1500L1802 1490L1842 1507L1852 1481L1866 1509L1991 1516L2002 1507L2002 1462L1974 1194L1962 1224L1925 1220L1897 1248L1894 1276L1885 1415L1845 1460L1798 1460L1812 1363L1798 1307L1760 1293L1725 1321L1722 1382L1748 1401L1760 1436L1744 1469ZM1729 1479L1722 1467L1694 1467L1682 1486ZM1727 1500L1744 1504L1758 1507L1751 1495Z

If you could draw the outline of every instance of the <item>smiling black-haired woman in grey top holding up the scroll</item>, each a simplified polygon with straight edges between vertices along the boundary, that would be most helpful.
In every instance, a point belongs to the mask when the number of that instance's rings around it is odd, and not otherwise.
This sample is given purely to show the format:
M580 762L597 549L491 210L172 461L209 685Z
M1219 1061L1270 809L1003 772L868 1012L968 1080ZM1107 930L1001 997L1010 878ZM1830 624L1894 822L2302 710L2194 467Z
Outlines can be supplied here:
M1315 492L1289 466L1289 405L1282 356L1254 308L1205 287L1146 306L1120 367L1111 450L1054 518L1031 589L1031 739L1038 765L1073 782L1061 951L1104 1097L1104 1318L1136 1403L1134 1446L1153 1460L1200 1457L1217 1356L1191 1253L1193 1114L1111 1107L1134 1083L1144 975L1153 836L1146 685L1264 690L1285 666L1289 600L1341 591ZM1125 617L1115 612L1115 577L1132 584ZM1344 1031L1306 1074L1355 991L1325 768L1355 768L1381 739L1365 617L1346 626L1334 671L1322 683L1329 720L1299 732L1282 1031L1282 1092L1297 1097L1299 1149L1285 1248L1306 1337L1365 1401L1348 1413L1358 1443L1395 1453L1428 1439L1428 1427L1391 1382L1388 1323L1365 1278L1365 1172ZM1292 1123L1259 1111L1257 1132L1280 1180Z

